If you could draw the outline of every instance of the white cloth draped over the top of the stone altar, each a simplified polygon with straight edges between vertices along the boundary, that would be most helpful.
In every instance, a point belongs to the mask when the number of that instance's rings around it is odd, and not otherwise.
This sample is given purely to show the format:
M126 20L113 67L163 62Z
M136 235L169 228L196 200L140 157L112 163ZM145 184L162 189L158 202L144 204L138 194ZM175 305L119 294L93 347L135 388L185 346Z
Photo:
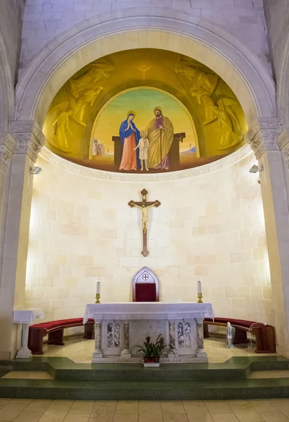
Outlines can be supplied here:
M89 318L97 319L182 319L214 318L211 303L196 302L107 302L89 303L83 324Z

